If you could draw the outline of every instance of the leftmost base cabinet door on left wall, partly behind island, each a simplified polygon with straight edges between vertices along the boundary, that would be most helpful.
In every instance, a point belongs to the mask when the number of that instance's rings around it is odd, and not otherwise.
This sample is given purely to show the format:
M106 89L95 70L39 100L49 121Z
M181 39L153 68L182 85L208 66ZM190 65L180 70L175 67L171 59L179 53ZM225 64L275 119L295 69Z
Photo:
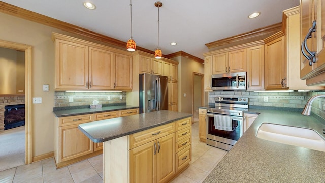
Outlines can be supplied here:
M59 160L71 160L93 152L93 142L84 135L78 125L59 127Z

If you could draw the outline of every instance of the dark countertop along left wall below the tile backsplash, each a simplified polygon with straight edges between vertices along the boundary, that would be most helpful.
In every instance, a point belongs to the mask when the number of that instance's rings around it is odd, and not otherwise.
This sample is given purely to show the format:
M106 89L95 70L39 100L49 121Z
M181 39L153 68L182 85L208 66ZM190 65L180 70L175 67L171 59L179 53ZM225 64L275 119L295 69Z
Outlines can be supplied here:
M82 115L82 114L93 114L99 112L109 112L116 110L124 110L124 109L135 109L139 108L139 106L130 106L130 105L116 105L116 106L103 106L102 108L90 109L90 108L70 108L64 110L54 110L53 114L55 117L66 117L66 116L74 116L74 115Z

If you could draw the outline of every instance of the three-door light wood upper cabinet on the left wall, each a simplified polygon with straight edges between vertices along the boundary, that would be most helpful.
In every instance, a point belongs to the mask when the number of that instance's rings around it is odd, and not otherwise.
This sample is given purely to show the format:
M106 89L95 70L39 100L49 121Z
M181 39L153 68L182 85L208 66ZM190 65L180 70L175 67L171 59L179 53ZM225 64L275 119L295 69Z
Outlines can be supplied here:
M55 41L55 90L132 90L128 52L52 34Z

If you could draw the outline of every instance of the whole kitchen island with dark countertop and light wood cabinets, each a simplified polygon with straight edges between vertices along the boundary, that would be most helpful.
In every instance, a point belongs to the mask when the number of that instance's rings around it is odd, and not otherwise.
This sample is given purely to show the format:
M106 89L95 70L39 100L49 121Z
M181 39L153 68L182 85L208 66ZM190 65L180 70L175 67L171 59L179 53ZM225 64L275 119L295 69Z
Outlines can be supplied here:
M104 142L104 182L166 182L191 160L191 116L163 110L78 128L93 142Z

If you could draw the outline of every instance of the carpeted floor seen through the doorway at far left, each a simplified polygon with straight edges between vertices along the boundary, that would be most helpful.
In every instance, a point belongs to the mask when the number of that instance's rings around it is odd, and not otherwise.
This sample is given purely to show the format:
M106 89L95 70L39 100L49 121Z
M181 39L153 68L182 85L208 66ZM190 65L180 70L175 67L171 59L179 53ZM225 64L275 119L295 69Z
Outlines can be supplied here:
M25 126L0 132L0 171L25 164Z

